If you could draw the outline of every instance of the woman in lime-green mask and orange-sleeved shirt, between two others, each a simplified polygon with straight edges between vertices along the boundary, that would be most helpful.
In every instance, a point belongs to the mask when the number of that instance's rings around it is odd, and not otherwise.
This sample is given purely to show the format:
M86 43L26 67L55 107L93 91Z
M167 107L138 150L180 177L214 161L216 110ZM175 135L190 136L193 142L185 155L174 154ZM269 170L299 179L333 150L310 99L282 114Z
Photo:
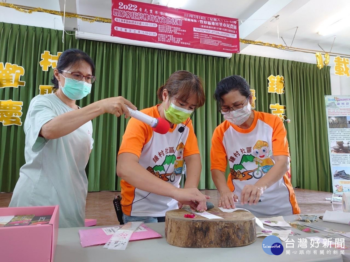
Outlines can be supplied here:
M124 223L163 222L168 210L189 204L207 209L208 196L197 189L201 158L191 114L204 104L200 79L187 71L177 71L159 88L161 104L142 110L147 115L162 117L170 123L166 134L131 118L119 148L117 174L121 177ZM186 183L179 188L186 162Z

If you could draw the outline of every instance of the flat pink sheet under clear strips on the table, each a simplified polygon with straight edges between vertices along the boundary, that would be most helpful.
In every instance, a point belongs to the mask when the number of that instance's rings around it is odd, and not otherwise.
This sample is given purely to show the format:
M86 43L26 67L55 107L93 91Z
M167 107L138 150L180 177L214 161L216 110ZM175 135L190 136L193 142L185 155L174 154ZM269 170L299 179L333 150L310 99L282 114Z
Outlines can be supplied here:
M142 224L141 226L144 227L147 231L134 232L131 235L130 241L162 237L161 234L155 232L148 226L145 226L145 224ZM112 237L112 235L106 235L102 228L79 230L79 235L80 244L82 247L105 244Z

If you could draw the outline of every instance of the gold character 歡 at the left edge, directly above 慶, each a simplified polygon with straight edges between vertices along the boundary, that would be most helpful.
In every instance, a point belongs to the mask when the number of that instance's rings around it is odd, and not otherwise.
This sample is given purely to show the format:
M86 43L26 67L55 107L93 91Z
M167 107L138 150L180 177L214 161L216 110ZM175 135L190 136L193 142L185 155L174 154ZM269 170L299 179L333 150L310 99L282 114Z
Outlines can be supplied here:
M26 82L20 81L21 75L25 71L22 66L6 63L0 63L0 88L25 86Z

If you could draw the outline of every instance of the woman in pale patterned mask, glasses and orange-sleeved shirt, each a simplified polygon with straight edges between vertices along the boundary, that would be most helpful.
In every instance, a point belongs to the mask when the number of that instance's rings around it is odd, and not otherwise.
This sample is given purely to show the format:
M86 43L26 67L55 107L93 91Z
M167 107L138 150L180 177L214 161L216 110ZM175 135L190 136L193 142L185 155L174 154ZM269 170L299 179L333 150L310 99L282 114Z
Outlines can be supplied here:
M210 152L219 207L245 208L257 217L299 214L287 175L289 150L282 120L251 109L250 87L239 75L222 79L215 99L225 118L214 131Z

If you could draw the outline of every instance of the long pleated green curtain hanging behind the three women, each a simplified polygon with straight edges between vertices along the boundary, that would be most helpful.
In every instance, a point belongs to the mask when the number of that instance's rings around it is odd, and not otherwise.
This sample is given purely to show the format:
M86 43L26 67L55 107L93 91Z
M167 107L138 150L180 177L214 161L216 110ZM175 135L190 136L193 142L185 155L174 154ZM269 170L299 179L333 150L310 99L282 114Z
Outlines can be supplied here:
M0 100L23 101L24 123L30 100L39 85L50 85L53 69L42 71L41 54L56 55L68 48L88 53L96 63L97 81L80 107L111 96L124 96L139 109L158 103L156 90L176 70L188 70L203 80L206 103L196 110L193 124L201 151L200 189L214 189L210 175L211 136L222 122L213 99L216 84L224 77L242 75L256 90L257 110L271 112L270 103L286 105L286 123L295 187L330 191L330 167L324 95L331 93L329 67L315 64L234 54L231 59L174 52L132 45L75 39L62 31L0 23L0 63L23 66L24 87L0 88ZM285 94L267 93L269 75L283 75ZM0 76L1 77L1 76ZM123 117L104 114L93 119L94 149L86 167L89 191L120 190L116 157L127 124ZM0 126L0 191L14 189L19 169L25 163L22 126ZM59 159L52 155L52 161Z

